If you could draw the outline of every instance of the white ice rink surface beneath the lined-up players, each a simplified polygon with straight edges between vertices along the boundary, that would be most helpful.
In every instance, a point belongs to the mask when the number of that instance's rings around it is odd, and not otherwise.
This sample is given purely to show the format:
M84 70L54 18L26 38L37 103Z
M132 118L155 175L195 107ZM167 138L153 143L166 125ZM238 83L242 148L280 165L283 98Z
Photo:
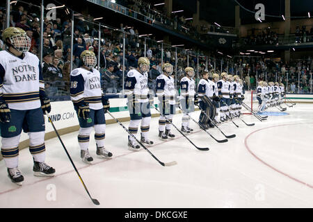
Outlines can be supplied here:
M24 183L18 187L10 182L0 161L0 207L313 207L312 110L313 105L297 103L287 108L287 115L268 116L267 121L243 117L255 126L246 126L239 119L234 120L239 128L232 122L223 123L220 129L226 135L236 134L224 144L191 121L194 132L188 138L209 151L198 151L174 128L177 138L161 141L159 118L152 118L154 145L149 149L161 162L177 161L172 167L162 167L144 149L129 151L127 133L118 124L106 126L111 160L96 156L94 132L90 135L92 165L81 162L78 133L62 135L99 206L90 201L58 138L49 139L46 162L56 169L56 176L33 176L33 160L26 148L19 153ZM268 111L279 112L276 108ZM199 114L194 112L192 117L198 119ZM173 119L179 129L181 120L182 114ZM128 128L128 122L123 124ZM209 133L225 139L216 128Z

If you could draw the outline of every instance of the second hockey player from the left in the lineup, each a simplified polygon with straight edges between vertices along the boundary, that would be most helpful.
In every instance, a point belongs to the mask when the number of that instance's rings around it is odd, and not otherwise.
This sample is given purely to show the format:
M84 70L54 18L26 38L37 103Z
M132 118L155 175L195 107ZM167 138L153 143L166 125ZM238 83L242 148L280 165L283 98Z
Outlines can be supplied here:
M88 164L93 162L88 145L90 133L95 128L95 142L97 156L111 157L112 153L104 148L106 119L104 113L110 108L109 100L104 98L100 83L100 73L94 69L97 58L93 51L85 50L81 53L82 66L74 69L70 74L70 95L79 119L79 135L77 136L81 148L81 160Z

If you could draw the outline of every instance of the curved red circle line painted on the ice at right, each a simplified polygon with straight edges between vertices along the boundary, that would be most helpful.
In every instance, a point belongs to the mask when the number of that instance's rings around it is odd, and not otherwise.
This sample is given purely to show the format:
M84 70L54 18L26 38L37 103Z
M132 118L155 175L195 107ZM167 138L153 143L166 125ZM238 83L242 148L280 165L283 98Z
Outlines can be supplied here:
M252 133L250 133L246 138L245 138L245 146L247 148L247 150L249 151L249 153L251 153L251 155L253 155L257 160L259 160L259 162L262 162L262 164L265 164L267 167L270 167L271 169L273 169L274 171L278 172L278 173L281 173L282 175L284 176L287 176L288 178L290 178L291 180L295 180L296 182L300 182L302 183L303 185L307 186L307 187L310 187L310 188L313 188L313 185L310 185L308 184L307 182L303 182L301 180L298 180L297 178L294 178L292 176L290 176L289 174L287 173L284 173L282 171L280 171L279 169L276 169L275 167L271 166L270 164L268 164L267 162L265 162L264 160L262 160L260 157L258 157L255 153L253 153L249 146L248 146L248 143L247 143L247 140L248 138L254 134L254 133L257 133L261 130L265 130L265 129L268 129L268 128L274 128L274 127L280 127L280 126L291 126L291 125L300 125L300 124L313 124L313 123L289 123L289 124L282 124L282 125L277 125L277 126L268 126L266 128L262 128L262 129L259 129L259 130L255 130L253 131Z

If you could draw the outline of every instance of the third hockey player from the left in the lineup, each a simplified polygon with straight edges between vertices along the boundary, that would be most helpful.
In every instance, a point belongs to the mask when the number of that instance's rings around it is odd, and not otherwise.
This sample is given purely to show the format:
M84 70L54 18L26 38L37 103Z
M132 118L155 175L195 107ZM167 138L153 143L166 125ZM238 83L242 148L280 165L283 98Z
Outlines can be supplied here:
M149 94L147 86L147 71L150 69L150 61L141 57L138 59L138 67L131 69L127 73L125 80L125 94L127 95L128 108L131 121L129 123L129 133L136 137L138 126L141 124L141 142L145 144L153 144L148 138L150 130L151 112L150 103L153 97ZM136 139L128 136L129 150L139 151L141 146Z

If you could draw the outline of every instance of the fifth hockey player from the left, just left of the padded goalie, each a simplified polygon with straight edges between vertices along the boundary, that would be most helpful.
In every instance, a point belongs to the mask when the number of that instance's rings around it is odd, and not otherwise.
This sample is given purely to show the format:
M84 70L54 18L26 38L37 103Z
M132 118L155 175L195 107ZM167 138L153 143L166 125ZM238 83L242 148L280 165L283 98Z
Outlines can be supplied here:
M182 117L182 132L190 133L193 129L189 128L190 117L188 114L195 110L195 71L193 67L186 67L186 76L180 80L180 97L179 102L184 111Z

